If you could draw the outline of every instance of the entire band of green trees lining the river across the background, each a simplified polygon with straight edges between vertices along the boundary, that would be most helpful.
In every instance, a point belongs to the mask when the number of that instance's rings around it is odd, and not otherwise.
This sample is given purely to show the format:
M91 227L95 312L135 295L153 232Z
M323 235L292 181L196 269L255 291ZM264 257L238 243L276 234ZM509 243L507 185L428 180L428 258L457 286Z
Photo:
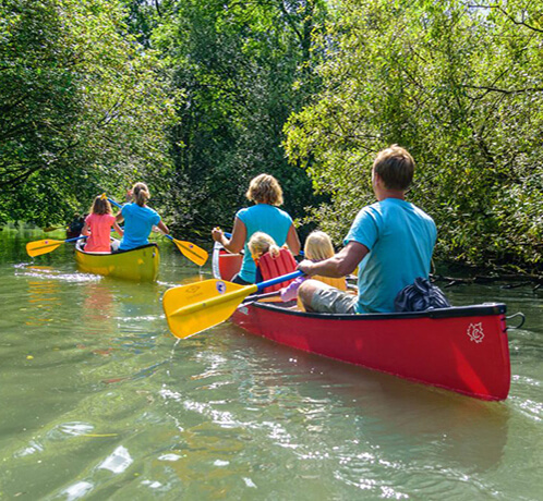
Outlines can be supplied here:
M0 0L0 221L143 179L208 234L269 172L340 243L396 143L441 258L541 268L542 47L529 0Z

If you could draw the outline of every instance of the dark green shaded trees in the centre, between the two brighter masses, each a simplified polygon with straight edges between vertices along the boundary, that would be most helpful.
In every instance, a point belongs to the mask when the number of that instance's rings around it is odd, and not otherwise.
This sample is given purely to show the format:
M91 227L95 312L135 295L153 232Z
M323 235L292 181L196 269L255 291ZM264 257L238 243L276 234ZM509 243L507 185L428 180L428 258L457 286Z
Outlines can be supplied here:
M281 147L290 113L315 87L315 0L186 0L161 4L153 42L172 86L186 95L172 131L176 175L169 205L182 232L230 227L254 175L276 175L294 217L314 199Z

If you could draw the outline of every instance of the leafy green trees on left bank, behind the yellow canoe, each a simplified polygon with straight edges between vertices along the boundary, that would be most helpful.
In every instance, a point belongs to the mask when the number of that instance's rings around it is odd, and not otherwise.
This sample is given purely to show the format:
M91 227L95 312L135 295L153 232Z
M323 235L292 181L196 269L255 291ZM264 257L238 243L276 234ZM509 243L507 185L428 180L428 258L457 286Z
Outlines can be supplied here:
M0 220L61 221L168 171L178 96L124 19L119 1L0 2Z

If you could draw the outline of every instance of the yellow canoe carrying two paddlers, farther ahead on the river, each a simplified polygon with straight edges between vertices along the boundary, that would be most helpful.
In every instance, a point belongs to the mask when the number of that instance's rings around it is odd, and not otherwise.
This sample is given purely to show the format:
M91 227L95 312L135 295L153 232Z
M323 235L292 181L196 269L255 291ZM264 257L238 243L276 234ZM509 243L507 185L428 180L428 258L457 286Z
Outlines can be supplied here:
M114 247L118 242L112 244ZM153 282L158 276L160 254L156 244L143 245L114 254L85 253L75 246L77 268L86 273L104 274L138 282Z

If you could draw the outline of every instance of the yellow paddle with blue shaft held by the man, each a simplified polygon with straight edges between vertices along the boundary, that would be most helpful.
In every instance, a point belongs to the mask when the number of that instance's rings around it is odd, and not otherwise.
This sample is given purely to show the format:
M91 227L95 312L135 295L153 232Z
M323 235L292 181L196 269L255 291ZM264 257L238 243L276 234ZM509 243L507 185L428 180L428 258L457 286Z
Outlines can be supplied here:
M162 308L173 335L188 338L227 320L250 294L302 274L293 271L254 285L215 279L180 285L166 291Z

